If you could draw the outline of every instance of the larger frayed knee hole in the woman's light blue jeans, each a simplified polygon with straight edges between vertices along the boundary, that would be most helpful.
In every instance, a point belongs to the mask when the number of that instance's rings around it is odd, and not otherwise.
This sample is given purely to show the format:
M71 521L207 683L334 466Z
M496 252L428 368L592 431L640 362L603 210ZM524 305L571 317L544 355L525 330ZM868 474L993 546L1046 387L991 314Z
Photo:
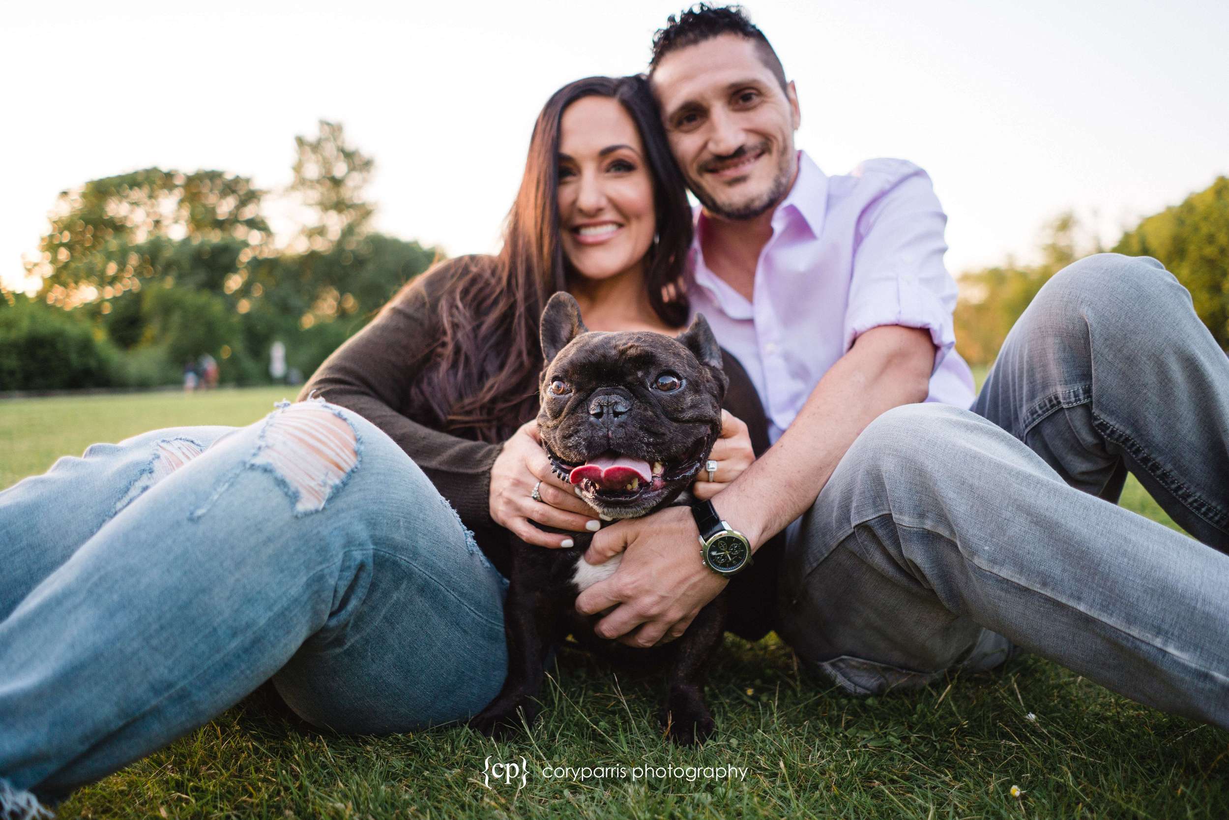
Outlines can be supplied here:
M232 471L189 519L209 511L241 472L249 467L274 476L294 503L295 515L324 509L359 465L358 433L323 400L280 404L265 420L252 456Z

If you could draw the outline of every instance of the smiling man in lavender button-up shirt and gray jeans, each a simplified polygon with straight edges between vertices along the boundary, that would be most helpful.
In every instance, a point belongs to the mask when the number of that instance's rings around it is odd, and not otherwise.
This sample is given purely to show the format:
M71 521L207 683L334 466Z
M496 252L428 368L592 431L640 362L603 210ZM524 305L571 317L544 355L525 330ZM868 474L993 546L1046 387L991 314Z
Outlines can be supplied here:
M1176 279L1069 266L975 400L921 168L796 151L795 86L736 7L671 17L650 80L702 203L692 309L775 441L712 504L752 550L788 527L778 632L807 669L879 693L1019 647L1229 727L1229 361ZM1127 470L1203 543L1105 503ZM698 537L686 508L603 530L586 559L627 554L578 609L614 606L596 631L626 643L681 634L728 583Z

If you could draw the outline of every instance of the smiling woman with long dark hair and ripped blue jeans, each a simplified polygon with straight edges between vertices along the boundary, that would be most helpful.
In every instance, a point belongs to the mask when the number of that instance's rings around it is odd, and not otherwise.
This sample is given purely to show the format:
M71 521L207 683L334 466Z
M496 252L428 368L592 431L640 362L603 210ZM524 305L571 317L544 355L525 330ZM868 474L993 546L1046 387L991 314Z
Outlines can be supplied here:
M503 527L568 546L530 521L597 526L526 424L542 305L569 290L591 329L676 332L689 242L643 81L581 80L538 118L501 253L412 283L305 401L248 428L95 445L0 493L0 800L60 799L270 677L344 733L485 706L508 581L483 550L506 559ZM755 392L728 373L762 447ZM752 459L741 423L713 457L704 498Z

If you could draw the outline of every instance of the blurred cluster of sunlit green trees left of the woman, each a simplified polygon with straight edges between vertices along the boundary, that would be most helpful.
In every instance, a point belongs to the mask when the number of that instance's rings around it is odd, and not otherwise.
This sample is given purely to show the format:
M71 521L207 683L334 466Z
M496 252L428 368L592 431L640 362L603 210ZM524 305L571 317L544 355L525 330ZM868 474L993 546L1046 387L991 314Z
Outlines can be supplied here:
M370 232L374 162L340 124L295 148L299 224L283 237L262 215L265 192L220 171L145 168L63 192L37 299L0 302L0 391L175 384L204 353L224 382L268 381L274 341L313 371L436 254ZM41 366L42 352L61 365Z

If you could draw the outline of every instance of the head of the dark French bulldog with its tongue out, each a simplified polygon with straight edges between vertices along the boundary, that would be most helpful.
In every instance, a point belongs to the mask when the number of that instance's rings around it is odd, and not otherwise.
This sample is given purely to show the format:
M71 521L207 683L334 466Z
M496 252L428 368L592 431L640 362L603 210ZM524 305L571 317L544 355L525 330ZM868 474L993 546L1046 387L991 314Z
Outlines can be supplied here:
M589 332L557 293L542 312L538 433L554 471L599 513L635 518L673 500L721 432L726 379L703 316L677 338Z

